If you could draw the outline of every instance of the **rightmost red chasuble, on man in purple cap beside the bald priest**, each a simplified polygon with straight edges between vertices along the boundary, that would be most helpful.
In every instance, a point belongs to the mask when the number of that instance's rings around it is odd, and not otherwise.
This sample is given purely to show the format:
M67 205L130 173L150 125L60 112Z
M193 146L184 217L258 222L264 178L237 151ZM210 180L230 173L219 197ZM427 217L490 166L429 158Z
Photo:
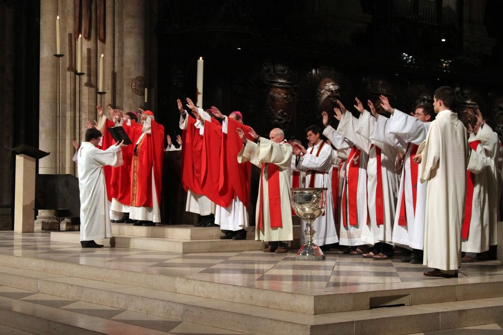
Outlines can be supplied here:
M250 127L245 126L231 118L227 118L227 134L223 134L223 145L225 160L220 169L220 196L224 199L228 196L229 189L231 194L231 199L237 196L237 198L248 207L249 193L250 193L250 174L251 174L251 163L249 161L239 164L237 161L237 154L243 146L243 142L236 132L237 128L240 128L246 138L253 141L253 138L249 135Z

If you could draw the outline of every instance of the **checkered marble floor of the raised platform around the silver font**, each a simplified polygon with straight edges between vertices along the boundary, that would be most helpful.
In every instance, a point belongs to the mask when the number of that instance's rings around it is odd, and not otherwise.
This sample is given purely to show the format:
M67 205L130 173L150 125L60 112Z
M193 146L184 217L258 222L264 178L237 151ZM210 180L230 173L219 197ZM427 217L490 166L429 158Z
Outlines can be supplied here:
M337 291L349 286L444 280L425 277L426 267L402 263L399 258L375 261L328 252L324 261L300 261L295 260L294 250L288 254L260 250L177 254L118 247L82 249L78 244L51 241L48 233L0 232L0 254L243 286L269 283ZM463 264L459 277L495 275L503 275L503 263L499 261Z

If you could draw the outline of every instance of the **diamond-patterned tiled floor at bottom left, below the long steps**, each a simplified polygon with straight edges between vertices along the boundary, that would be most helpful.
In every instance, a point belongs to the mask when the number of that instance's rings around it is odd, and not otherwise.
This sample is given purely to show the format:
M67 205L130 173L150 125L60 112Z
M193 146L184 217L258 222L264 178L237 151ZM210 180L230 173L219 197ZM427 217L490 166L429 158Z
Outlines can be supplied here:
M241 334L240 332L225 330L221 328L215 328L191 322L183 322L180 320L173 320L160 316L133 312L84 301L66 299L49 294L36 293L8 286L0 286L0 304L7 303L2 301L1 297L30 302L33 304L42 305L44 307L52 307L60 310L71 311L77 313L79 317L85 317L86 315L89 315L132 324L145 328L144 333L148 333L148 329L153 329L170 334ZM44 309L44 307L41 308ZM51 315L53 315L53 317L57 319L58 312L52 312ZM62 317L64 317L63 312L61 312L60 318ZM110 326L107 329L112 331L113 333L117 333L113 330L113 328L110 328ZM23 330L13 329L0 325L0 335L27 333L28 332L25 332Z

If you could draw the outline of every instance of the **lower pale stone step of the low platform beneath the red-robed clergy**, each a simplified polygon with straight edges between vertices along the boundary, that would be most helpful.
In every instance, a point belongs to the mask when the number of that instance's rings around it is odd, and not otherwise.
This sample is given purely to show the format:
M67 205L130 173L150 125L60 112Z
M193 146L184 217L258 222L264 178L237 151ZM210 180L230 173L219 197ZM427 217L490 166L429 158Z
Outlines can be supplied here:
M148 227L144 227L148 228ZM51 241L80 243L78 231L53 231ZM165 251L172 253L206 253L223 251L260 250L263 242L253 239L175 239L160 237L140 237L116 234L112 238L96 240L99 244L123 248Z

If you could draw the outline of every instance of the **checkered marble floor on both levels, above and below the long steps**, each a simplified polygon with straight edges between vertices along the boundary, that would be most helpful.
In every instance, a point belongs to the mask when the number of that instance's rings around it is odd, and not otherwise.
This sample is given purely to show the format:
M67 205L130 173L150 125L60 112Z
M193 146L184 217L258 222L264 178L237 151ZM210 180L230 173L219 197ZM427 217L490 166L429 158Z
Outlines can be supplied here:
M383 285L387 289L392 289L394 287L403 288L405 284L417 286L422 282L441 283L441 281L458 280L425 277L423 276L426 269L424 266L402 263L399 258L375 261L334 251L326 253L324 261L297 261L295 260L295 250L290 250L288 254L263 253L261 250L177 254L118 247L82 249L75 243L51 241L49 233L15 234L12 231L2 231L0 232L0 255L200 279L237 286L267 287L274 290L290 288L288 290L291 292L310 292L312 289L325 289L325 292L347 292L348 289L352 291L379 290ZM483 279L502 275L503 263L487 261L463 264L459 280L463 278ZM238 333L90 302L0 286L0 304L13 303L13 300L20 304L31 303L57 308L62 313L77 313L78 315L104 319L104 322L109 322L115 327L120 327L118 324L138 326L141 329L150 329L152 333ZM109 326L112 327L112 325ZM428 332L428 334L503 334L502 328L503 324L498 323ZM0 335L4 333L22 334L26 332L0 326Z

